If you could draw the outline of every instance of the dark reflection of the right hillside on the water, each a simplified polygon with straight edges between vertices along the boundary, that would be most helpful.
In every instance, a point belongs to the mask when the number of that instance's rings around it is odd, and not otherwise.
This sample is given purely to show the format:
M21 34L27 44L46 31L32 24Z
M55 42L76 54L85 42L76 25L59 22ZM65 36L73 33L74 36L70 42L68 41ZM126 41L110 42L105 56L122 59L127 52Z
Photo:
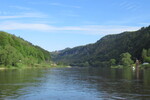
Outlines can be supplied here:
M149 73L149 69L140 70L137 78L137 73L130 68L93 69L92 76L99 76L97 79L95 78L95 83L98 83L97 89L106 91L109 98L145 100L150 99Z

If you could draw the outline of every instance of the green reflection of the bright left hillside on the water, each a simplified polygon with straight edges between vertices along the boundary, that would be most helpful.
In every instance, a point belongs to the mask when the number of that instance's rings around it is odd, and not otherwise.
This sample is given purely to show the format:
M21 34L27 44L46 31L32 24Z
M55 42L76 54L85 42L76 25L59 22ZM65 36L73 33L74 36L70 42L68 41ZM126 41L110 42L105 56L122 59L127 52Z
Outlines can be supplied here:
M9 69L0 71L0 98L16 98L26 92L22 88L38 85L43 74L37 69Z

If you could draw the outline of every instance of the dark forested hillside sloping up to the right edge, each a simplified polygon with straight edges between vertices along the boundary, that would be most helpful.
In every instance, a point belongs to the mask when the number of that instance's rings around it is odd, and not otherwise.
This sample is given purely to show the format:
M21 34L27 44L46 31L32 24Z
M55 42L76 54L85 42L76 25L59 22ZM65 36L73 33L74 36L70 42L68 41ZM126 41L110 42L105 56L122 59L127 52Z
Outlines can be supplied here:
M144 56L143 56L144 55ZM150 62L150 26L138 31L107 35L96 43L52 52L57 63L72 66L108 66L108 64Z

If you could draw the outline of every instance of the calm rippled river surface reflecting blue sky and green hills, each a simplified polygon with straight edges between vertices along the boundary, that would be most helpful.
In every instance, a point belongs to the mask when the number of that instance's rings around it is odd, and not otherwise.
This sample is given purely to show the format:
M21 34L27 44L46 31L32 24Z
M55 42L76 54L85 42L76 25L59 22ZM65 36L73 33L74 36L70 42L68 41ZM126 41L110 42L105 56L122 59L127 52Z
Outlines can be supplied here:
M1 70L0 100L150 100L150 69Z

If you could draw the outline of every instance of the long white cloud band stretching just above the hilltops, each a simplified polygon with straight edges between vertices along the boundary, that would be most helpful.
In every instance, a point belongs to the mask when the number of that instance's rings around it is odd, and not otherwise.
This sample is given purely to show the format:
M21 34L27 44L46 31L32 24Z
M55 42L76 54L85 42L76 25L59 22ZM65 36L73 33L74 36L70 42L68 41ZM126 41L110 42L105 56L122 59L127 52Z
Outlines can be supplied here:
M52 26L48 24L31 24L5 22L0 23L0 30L34 30L47 31L52 33L78 33L78 34L116 34L124 31L135 31L140 27L134 26L102 26L102 25L85 25L85 26Z

